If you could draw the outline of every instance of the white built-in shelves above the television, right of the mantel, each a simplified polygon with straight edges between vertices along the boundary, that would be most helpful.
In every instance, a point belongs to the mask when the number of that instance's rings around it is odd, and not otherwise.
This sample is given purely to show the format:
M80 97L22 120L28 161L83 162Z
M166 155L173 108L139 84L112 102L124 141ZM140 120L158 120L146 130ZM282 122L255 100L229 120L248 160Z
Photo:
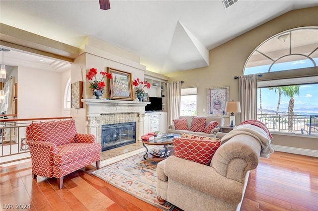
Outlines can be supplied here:
M145 76L145 81L151 84L150 89L147 89L146 92L150 97L162 97L162 111L166 111L165 105L165 90L166 90L166 81L160 80L155 77Z

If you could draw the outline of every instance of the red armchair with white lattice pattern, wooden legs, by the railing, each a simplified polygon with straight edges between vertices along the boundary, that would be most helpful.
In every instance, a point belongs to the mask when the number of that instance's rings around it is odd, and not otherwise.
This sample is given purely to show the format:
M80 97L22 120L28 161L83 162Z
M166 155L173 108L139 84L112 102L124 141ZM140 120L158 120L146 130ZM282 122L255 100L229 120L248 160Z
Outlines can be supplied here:
M91 134L78 134L74 120L32 123L26 128L32 175L55 177L59 189L64 176L96 162L99 168L100 143Z

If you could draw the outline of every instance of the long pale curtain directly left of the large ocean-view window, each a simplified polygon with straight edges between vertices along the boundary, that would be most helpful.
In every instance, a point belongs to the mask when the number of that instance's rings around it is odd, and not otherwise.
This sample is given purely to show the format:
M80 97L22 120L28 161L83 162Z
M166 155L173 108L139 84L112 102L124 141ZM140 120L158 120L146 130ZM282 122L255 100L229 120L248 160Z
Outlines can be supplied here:
M239 76L241 122L257 116L257 74Z

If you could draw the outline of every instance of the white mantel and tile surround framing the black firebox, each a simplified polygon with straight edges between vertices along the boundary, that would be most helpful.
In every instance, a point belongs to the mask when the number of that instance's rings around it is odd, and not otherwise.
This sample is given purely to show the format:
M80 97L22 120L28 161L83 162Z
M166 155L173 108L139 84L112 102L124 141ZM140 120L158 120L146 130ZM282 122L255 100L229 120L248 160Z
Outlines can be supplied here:
M102 143L102 126L122 123L134 123L135 141L140 141L140 137L144 134L145 106L149 102L104 99L82 99L82 101L86 104L86 133L95 135L97 142ZM135 141L130 140L130 142ZM109 149L106 145L105 150Z

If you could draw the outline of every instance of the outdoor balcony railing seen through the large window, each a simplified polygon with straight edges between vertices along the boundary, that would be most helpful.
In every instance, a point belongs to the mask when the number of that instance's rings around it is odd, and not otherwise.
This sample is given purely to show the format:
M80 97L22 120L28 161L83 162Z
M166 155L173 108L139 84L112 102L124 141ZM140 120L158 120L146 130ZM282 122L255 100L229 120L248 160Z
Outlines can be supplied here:
M315 115L275 115L257 114L257 120L264 123L270 131L292 134L318 135L318 116ZM292 129L289 129L292 121Z

